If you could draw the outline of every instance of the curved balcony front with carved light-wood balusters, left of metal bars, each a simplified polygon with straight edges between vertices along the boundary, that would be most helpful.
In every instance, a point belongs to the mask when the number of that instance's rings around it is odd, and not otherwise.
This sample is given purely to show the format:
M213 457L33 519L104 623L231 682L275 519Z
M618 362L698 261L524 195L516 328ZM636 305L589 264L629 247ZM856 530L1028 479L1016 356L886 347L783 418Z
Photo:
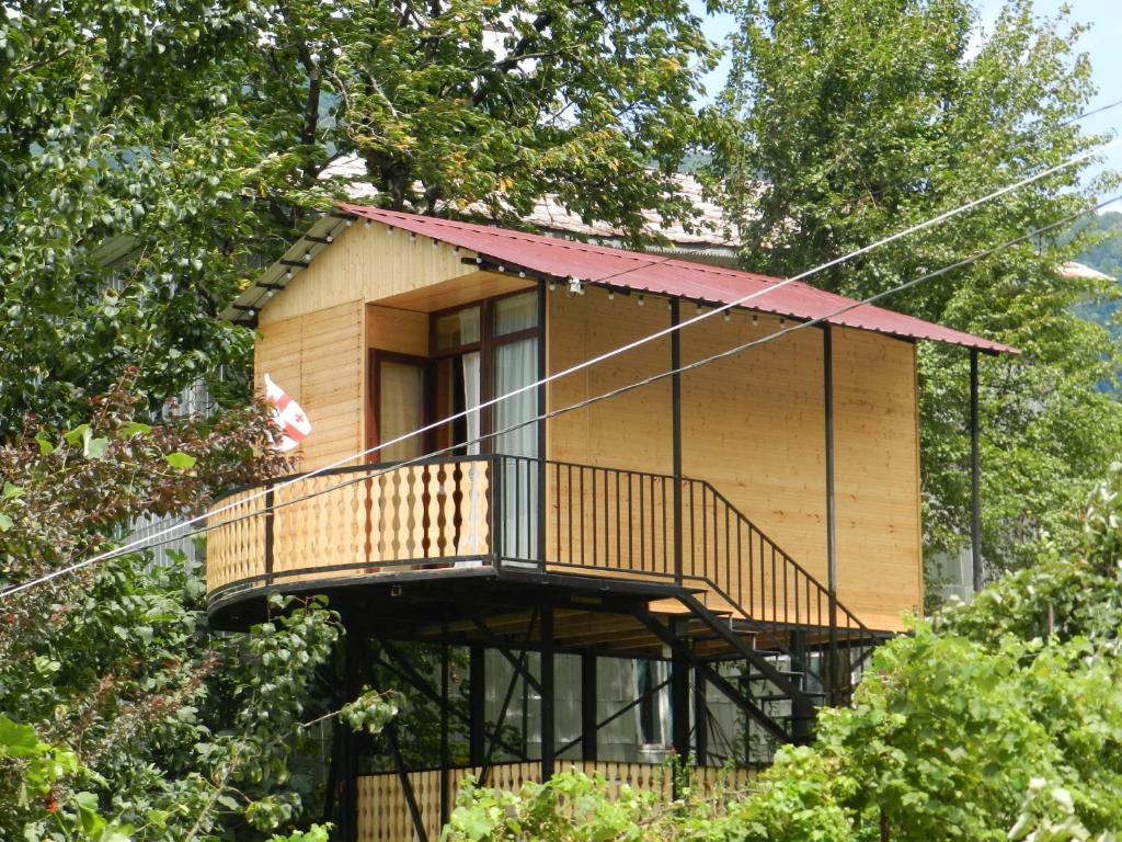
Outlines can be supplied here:
M208 516L211 614L274 591L494 565L494 457L277 477Z

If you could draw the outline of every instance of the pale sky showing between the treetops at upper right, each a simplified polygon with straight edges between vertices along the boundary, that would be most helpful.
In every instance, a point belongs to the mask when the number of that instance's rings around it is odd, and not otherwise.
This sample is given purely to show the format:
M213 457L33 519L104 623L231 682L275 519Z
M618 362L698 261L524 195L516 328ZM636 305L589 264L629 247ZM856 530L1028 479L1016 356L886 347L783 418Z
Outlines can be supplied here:
M1003 4L1002 0L976 0L976 2L983 27L992 27ZM734 24L732 16L705 17L705 0L690 0L690 4L697 15L705 18L705 29L709 37L723 43L732 31ZM1098 88L1098 93L1087 110L1122 100L1122 0L1036 0L1034 3L1037 13L1046 18L1055 17L1065 4L1072 11L1073 21L1091 26L1091 30L1084 33L1079 40L1079 48L1091 58L1095 85ZM726 57L706 79L709 97L720 91L727 74ZM1122 106L1088 117L1083 125L1091 134L1122 135ZM1122 145L1109 150L1104 162L1088 170L1088 175L1103 167L1122 171Z

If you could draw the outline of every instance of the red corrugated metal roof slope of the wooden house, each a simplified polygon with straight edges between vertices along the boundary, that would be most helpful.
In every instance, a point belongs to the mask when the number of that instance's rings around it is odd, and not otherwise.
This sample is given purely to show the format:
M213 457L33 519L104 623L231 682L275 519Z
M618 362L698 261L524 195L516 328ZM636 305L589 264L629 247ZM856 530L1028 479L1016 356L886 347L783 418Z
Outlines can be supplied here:
M344 213L459 246L512 269L527 269L559 280L574 278L583 283L604 284L653 295L681 296L710 304L728 304L781 283L780 278L752 272L708 266L663 255L645 255L619 248L592 246L505 228L421 217L364 204L343 203L339 209ZM839 315L830 315L853 303L852 299L795 281L760 295L744 306L808 321L829 315L828 321L831 324L905 339L959 345L991 354L1018 353L1015 348L1001 342L872 304L862 304Z

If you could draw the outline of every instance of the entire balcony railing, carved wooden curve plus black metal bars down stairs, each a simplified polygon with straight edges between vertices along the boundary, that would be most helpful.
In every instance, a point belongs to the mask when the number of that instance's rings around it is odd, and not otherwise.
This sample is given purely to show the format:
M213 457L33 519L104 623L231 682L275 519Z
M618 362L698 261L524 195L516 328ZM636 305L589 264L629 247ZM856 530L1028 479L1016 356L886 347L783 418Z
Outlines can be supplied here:
M710 611L745 623L819 681L826 659L800 647L822 652L829 643L855 656L853 666L874 638L697 479L448 457L272 481L217 506L230 509L212 519L212 601L263 586L487 565L701 588Z

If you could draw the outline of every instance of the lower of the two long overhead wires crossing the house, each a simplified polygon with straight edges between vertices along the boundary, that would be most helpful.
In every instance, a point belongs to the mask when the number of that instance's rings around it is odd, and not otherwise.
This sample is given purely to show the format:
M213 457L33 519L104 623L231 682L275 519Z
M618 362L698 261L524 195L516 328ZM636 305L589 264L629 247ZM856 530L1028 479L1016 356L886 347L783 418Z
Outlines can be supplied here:
M717 354L712 354L712 355L710 355L708 357L702 357L701 359L695 360L692 363L689 363L689 364L686 364L686 365L682 365L682 366L679 366L679 367L675 367L675 368L670 368L670 369L660 372L657 374L651 375L649 377L644 377L644 378L641 378L641 379L637 379L637 381L633 381L632 383L625 384L624 386L618 386L618 387L609 390L607 392L603 392L603 393L600 393L598 395L594 395L591 397L587 397L587 399L583 399L581 401L577 401L574 403L571 403L571 404L567 404L565 406L561 406L561 408L558 408L555 410L549 410L546 412L537 413L536 415L534 415L532 418L525 419L523 421L515 422L515 423L509 424L509 425L507 425L507 427L505 427L503 429L499 429L499 430L494 430L491 432L481 433L480 436L477 436L477 437L475 437L475 438L472 438L472 439L470 439L468 441L465 441L465 442L460 442L460 443L457 443L457 445L451 445L451 446L443 447L443 448L438 448L438 449L432 450L432 451L430 451L427 454L424 454L422 456L413 457L411 459L405 459L405 460L402 460L402 461L396 461L396 463L393 463L392 465L387 465L385 467L371 468L368 472L361 472L361 476L343 481L341 483L328 486L325 488L319 488L319 489L316 489L314 492L309 492L306 494L300 495L300 496L294 497L292 500L284 501L282 503L274 503L270 506L261 509L260 511L248 512L248 513L245 513L245 514L236 515L233 518L229 518L229 519L219 521L217 523L208 523L206 525L204 525L204 527L202 527L200 529L196 529L196 530L191 530L191 531L187 531L187 532L182 532L181 531L185 527L190 525L191 523L197 523L200 520L210 519L210 518L213 518L215 514L219 514L219 513L221 513L223 511L229 511L236 504L230 504L230 505L228 505L226 507L220 507L220 509L213 510L211 512L208 512L206 514L193 518L190 521L176 524L175 527L169 528L168 530L165 531L165 532L175 532L174 537L169 537L169 538L166 538L166 539L163 539L163 540L153 540L153 539L159 537L159 534L157 533L156 536L151 536L149 539L144 539L142 541L139 541L139 542L134 542L131 544L126 544L123 547L119 547L119 548L116 548L113 550L109 550L109 551L107 551L104 553L101 553L98 557L85 559L85 560L76 562L74 565L70 565L67 567L59 568L58 570L54 570L54 571L52 571L49 574L45 574L43 576L39 576L39 577L36 577L36 578L28 579L26 582L12 585L12 586L3 589L3 591L0 591L0 598L7 597L7 596L12 596L16 593L19 593L21 591L26 591L26 589L28 589L30 587L34 587L36 585L44 584L44 583L49 582L49 580L52 580L54 578L57 578L58 576L63 576L63 575L70 574L70 573L74 573L74 571L76 571L79 569L82 569L84 567L89 567L89 566L91 566L93 564L96 564L99 561L103 561L103 560L108 560L110 558L116 558L116 557L120 557L120 556L123 556L123 555L128 555L128 553L137 551L139 549L150 549L150 548L159 547L159 546L163 546L163 544L166 544L166 543L172 543L172 542L175 542L175 541L181 541L181 540L183 540L185 538L193 538L195 536L205 534L206 532L209 532L209 531L211 531L213 529L219 529L221 527L231 525L233 523L238 523L238 522L243 521L243 520L249 520L249 519L252 519L252 518L257 518L257 516L261 516L261 515L265 515L265 514L269 514L269 513L273 513L273 512L275 512L277 510L285 509L285 507L289 506L289 505L295 505L297 503L303 503L303 502L306 502L309 500L313 500L313 498L315 498L318 496L321 496L321 495L324 495L324 494L330 494L330 493L332 493L334 491L338 491L340 488L344 488L344 487L348 487L350 485L356 485L358 483L362 483L362 482L366 482L368 479L377 478L379 476L383 476L384 474L387 474L387 473L390 473L390 472L394 472L394 470L399 470L401 468L410 467L410 466L413 466L413 465L417 465L417 464L424 463L424 461L426 461L429 459L432 459L432 458L435 458L435 457L439 457L439 456L451 454L454 450L460 450L462 448L470 447L472 445L482 443L484 441L488 441L488 440L497 438L499 436L505 436L507 433L511 433L511 432L514 432L516 430L519 430L519 429L522 429L524 427L528 427L530 424L535 424L535 423L539 423L541 421L549 421L549 420L552 420L552 419L558 418L560 415L567 414L569 412L574 412L577 410L586 409L586 408L591 406L594 404L601 403L604 401L608 401L608 400L611 400L614 397L618 397L620 395L627 394L629 392L634 392L634 391L636 391L638 388L643 388L645 386L652 385L652 384L657 383L660 381L666 379L668 377L673 377L675 375L684 374L687 372L695 370L697 368L700 368L702 366L709 365L709 364L715 363L717 360L726 359L728 357L733 357L733 356L736 356L738 354L743 354L743 353L745 353L747 350L751 350L752 348L755 348L755 347L758 347L758 346L762 346L762 345L766 345L769 342L778 341L779 339L783 338L784 336L789 336L790 333L794 333L794 332L800 331L800 330L806 330L808 328L816 327L818 324L827 323L827 322L829 322L829 320L836 319L838 315L843 315L843 314L845 314L845 313L847 313L847 312L849 312L852 310L856 310L857 308L861 308L861 306L867 306L867 305L870 305L872 303L875 303L876 301L880 301L880 300L882 300L882 299L884 299L884 298L886 298L889 295L893 295L893 294L895 294L898 292L903 292L904 290L909 290L909 289L911 289L913 286L917 286L918 284L926 283L928 281L932 281L932 280L935 280L937 277L941 277L944 275L947 275L947 274L949 274L949 273L951 273L951 272L954 272L956 269L964 268L965 266L968 266L968 265L971 265L973 263L976 263L977 260L985 259L986 257L991 257L991 256L993 256L993 255L995 255L995 254L997 254L997 253L1000 253L1000 251L1002 251L1002 250L1004 250L1006 248L1011 248L1012 246L1015 246L1015 245L1019 245L1021 242L1026 242L1028 240L1031 240L1033 237L1039 237L1040 235L1047 234L1048 231L1055 230L1055 229L1057 229L1057 228L1059 228L1061 226L1069 225L1070 222L1075 221L1076 219L1079 219L1079 218L1082 218L1082 217L1084 217L1084 216L1086 216L1088 213L1093 213L1093 212L1096 212L1098 210L1102 210L1103 208L1105 208L1105 207L1107 207L1110 204L1113 204L1114 202L1118 202L1120 200L1122 200L1122 194L1114 195L1114 196L1112 196L1112 198L1110 198L1107 200L1101 201L1101 202L1098 202L1098 203L1096 203L1096 204L1094 204L1092 207L1085 208L1085 209L1083 209L1080 211L1077 211L1075 213L1067 214L1063 219L1059 219L1059 220L1057 220L1055 222L1050 222L1047 226L1038 227L1038 228L1036 228L1036 229L1033 229L1031 231L1028 231L1026 234L1019 235L1018 237L1014 237L1014 238L1011 238L1009 240L1005 240L1005 241L1003 241L1003 242L1001 242L1001 244L999 244L996 246L992 246L990 248L983 249L983 250L977 251L977 253L975 253L975 254L973 254L973 255L971 255L968 257L965 257L965 258L963 258L960 260L957 260L957 262L955 262L953 264L948 264L947 266L944 266L941 268L935 269L934 272L926 273L923 275L920 275L919 277L912 278L910 281L905 281L905 282L903 282L901 284L898 284L898 285L895 285L893 287L890 287L888 290L883 290L881 292L874 293L873 295L870 295L870 296L867 296L865 299L862 299L859 301L852 301L852 302L845 304L844 306L840 306L837 310L834 310L830 313L827 313L825 315L820 315L820 317L817 317L815 319L810 319L810 320L807 320L807 321L798 322L795 324L792 324L789 328L783 328L781 330L775 331L774 333L769 333L765 337L761 337L760 339L754 339L752 341L744 342L744 344L735 346L733 348L728 348L728 349L726 349L724 351L718 351ZM719 310L715 309L715 310L712 310L710 312L719 312ZM683 322L683 324L684 324L684 322ZM320 472L311 472L311 473L307 473L307 474L300 474L300 475L296 475L296 476L294 476L294 477L292 477L289 479L284 481L283 483L272 483L272 491L275 492L276 488L278 488L278 487L285 487L287 485L292 485L294 483L298 483L298 482L302 482L304 479L311 478L312 476L315 476L318 474L322 474L324 470L327 470L327 469L324 468L324 469L321 469ZM356 473L358 473L358 469L356 470ZM263 491L257 496L264 496L266 493L268 493L268 492L267 491ZM245 498L238 501L237 505L241 505L241 504L243 504L246 502L249 502L250 500L254 500L254 498L255 497L252 497L252 496L245 497ZM142 546L138 547L137 546L138 543L140 543Z

